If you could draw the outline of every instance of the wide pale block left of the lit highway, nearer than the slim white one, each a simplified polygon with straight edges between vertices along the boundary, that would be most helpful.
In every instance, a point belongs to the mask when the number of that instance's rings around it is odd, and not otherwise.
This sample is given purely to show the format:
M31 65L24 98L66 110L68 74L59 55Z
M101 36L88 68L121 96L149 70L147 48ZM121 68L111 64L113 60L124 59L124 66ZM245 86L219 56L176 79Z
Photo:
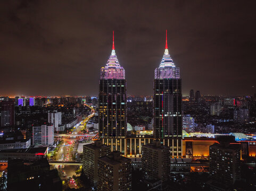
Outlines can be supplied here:
M32 126L32 144L33 145L53 145L54 126L41 125Z

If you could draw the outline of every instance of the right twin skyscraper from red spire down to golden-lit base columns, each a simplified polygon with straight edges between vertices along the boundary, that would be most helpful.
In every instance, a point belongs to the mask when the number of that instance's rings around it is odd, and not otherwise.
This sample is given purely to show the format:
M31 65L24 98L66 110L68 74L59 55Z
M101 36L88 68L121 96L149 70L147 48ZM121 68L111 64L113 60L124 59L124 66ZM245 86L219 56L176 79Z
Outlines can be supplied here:
M172 157L181 157L182 110L180 69L170 57L167 45L154 77L154 138L170 146Z

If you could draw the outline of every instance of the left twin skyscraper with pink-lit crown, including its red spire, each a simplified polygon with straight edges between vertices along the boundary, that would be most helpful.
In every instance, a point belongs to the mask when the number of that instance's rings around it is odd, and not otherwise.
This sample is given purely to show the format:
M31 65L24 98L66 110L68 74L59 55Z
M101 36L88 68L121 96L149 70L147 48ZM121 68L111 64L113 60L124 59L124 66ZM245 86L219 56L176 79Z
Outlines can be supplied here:
M117 55L115 55L114 33L112 53L106 66L101 68L98 99L99 136L104 138L104 141L107 141L108 138L126 137L125 69L120 66Z

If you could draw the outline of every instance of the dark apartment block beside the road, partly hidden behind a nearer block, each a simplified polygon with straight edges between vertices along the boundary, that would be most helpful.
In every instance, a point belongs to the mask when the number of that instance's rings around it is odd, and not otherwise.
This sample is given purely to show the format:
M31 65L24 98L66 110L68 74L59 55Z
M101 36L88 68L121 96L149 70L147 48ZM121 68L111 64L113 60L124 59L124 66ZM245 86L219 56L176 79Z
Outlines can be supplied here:
M96 184L98 181L98 158L108 154L110 154L110 147L103 145L102 140L84 145L82 168L92 184Z

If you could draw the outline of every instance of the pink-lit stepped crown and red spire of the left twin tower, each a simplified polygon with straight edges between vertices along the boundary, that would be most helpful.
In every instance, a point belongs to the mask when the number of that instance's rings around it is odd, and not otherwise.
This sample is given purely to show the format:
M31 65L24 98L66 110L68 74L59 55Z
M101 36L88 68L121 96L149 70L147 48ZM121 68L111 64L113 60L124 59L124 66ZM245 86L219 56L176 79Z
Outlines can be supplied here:
M114 49L114 31L112 52L105 67L101 68L101 79L125 79L125 69L120 66Z

